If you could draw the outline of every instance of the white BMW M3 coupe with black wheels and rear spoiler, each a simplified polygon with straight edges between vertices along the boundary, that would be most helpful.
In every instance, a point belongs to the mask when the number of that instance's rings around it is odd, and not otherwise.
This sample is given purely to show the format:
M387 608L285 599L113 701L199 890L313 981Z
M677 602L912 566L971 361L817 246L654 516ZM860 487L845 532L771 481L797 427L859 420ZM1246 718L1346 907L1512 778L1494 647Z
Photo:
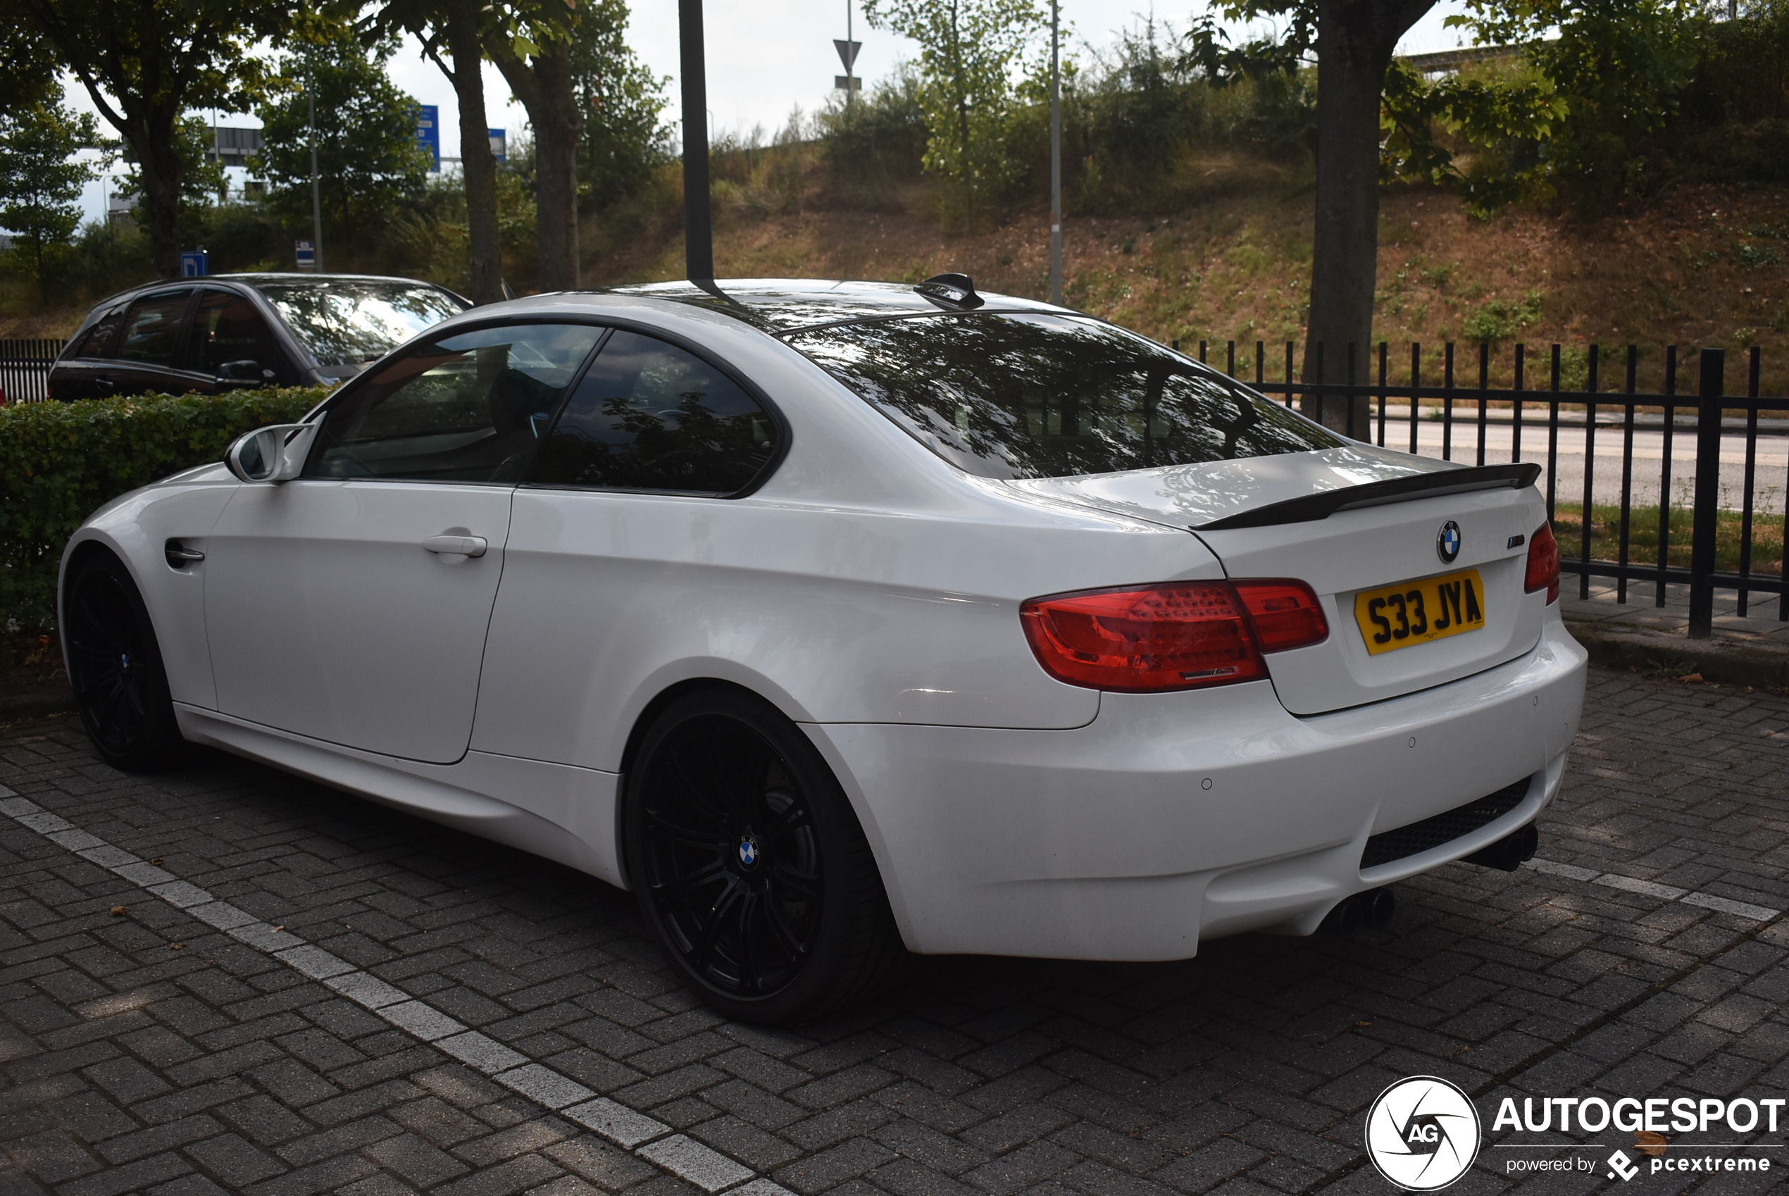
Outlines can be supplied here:
M118 767L558 860L796 1021L909 951L1186 958L1513 869L1585 681L1535 472L962 275L540 295L109 502L61 627Z

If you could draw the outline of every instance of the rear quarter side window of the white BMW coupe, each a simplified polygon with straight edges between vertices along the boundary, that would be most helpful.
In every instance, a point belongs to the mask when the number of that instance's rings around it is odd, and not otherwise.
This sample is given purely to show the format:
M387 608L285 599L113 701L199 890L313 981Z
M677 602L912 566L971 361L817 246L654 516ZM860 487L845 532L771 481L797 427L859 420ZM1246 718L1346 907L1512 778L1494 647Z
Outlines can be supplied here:
M733 493L776 452L776 424L701 358L617 331L540 447L531 483Z

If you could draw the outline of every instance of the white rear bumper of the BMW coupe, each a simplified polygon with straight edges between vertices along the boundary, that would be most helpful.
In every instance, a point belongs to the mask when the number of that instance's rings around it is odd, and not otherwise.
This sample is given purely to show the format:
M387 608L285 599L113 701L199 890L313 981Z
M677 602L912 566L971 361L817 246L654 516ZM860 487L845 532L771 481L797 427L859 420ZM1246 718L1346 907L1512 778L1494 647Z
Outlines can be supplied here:
M1340 899L1471 855L1558 792L1585 651L1549 611L1526 656L1293 717L1272 685L1104 694L1070 731L809 726L923 953L1168 960L1200 939L1311 933ZM1361 871L1370 835L1528 778L1521 803Z

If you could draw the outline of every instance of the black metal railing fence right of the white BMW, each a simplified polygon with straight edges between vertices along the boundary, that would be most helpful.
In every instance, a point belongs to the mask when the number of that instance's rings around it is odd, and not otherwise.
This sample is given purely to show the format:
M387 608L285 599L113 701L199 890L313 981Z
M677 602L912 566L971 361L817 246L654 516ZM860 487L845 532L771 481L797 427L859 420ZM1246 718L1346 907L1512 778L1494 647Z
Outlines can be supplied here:
M1175 343L1179 347L1179 343ZM1213 345L1199 341L1199 359L1209 361ZM1276 345L1279 349L1279 345ZM1344 379L1329 383L1324 379L1324 347L1315 345L1311 352L1311 379L1299 381L1293 370L1293 343L1285 343L1285 361L1279 381L1268 377L1267 341L1254 343L1254 361L1242 361L1238 374L1236 341L1224 345L1224 368L1231 377L1251 383L1263 393L1279 395L1286 406L1304 397L1317 397L1326 409L1335 411L1342 424L1345 418L1347 434L1354 440L1369 440L1378 445L1426 452L1444 459L1471 459L1476 465L1496 463L1499 459L1521 461L1524 451L1528 459L1546 461L1546 501L1547 518L1558 517L1560 504L1560 433L1581 438L1583 445L1583 490L1581 495L1565 497L1567 506L1574 499L1578 506L1576 543L1560 538L1560 567L1578 576L1578 595L1590 595L1590 577L1610 577L1615 581L1615 599L1628 601L1628 588L1646 586L1653 592L1657 606L1666 604L1666 586L1671 583L1689 585L1689 633L1707 636L1712 631L1714 592L1735 590L1737 613L1746 615L1751 608L1751 595L1776 595L1776 619L1789 620L1789 586L1784 585L1782 542L1784 542L1784 495L1789 493L1789 467L1769 470L1766 476L1759 461L1760 420L1762 434L1782 436L1789 445L1789 399L1759 395L1760 356L1753 347L1744 358L1746 393L1734 395L1726 390L1726 350L1701 349L1698 352L1698 377L1694 392L1682 390L1678 349L1664 350L1662 363L1648 363L1660 368L1662 388L1658 392L1641 392L1641 350L1633 345L1624 354L1605 358L1598 345L1590 345L1581 363L1581 383L1576 388L1562 384L1562 350L1551 347L1544 365L1546 381L1540 386L1530 384L1531 366L1526 345L1513 347L1510 361L1510 384L1492 386L1490 345L1474 345L1467 354L1460 354L1453 343L1444 345L1440 361L1437 354L1428 358L1420 345L1410 347L1410 372L1406 381L1394 383L1390 370L1390 347L1376 345L1361 368L1354 345L1349 345L1345 361L1336 361L1336 374ZM1247 352L1247 347L1245 347ZM1279 354L1276 354L1279 356ZM1465 370L1462 370L1465 358ZM1249 377L1252 368L1252 375ZM1399 361L1403 366L1403 361ZM1438 366L1438 370L1437 370ZM1476 368L1474 368L1476 366ZM1499 363L1501 366L1501 363ZM1612 368L1610 368L1612 366ZM1574 372L1576 372L1574 368ZM1438 374L1438 377L1437 377ZM1476 384L1463 383L1472 379ZM1374 377L1378 375L1378 377ZM1615 375L1615 377L1608 377ZM1435 379L1435 381L1426 381ZM1578 383L1578 379L1573 379ZM1605 390L1607 383L1614 388ZM1342 408L1336 411L1335 408ZM1778 418L1769 418L1776 415ZM1365 420L1365 425L1361 422ZM1429 434L1424 436L1424 427ZM1438 436L1435 429L1438 427ZM1506 445L1492 445L1492 431L1508 429ZM1599 451L1598 434L1603 445L1610 440L1619 443L1615 452ZM1658 454L1658 502L1657 511L1644 511L1646 524L1637 522L1635 486L1651 479L1635 474L1635 436L1657 433L1660 438ZM1524 434L1531 436L1528 445ZM1673 447L1678 438L1694 438L1694 470L1689 502L1675 501L1671 490ZM1737 506L1723 506L1721 495L1721 456L1723 440L1732 447L1742 445L1741 470L1737 481ZM1438 442L1438 443L1437 443ZM1471 443L1463 443L1471 442ZM1737 443L1735 443L1737 442ZM1769 442L1768 442L1769 443ZM1462 451L1463 449L1463 451ZM1487 461L1487 454L1494 459ZM1592 551L1596 508L1598 508L1598 459L1619 459L1621 481L1614 488L1617 495L1608 495L1608 486L1601 488L1603 504L1617 506L1614 552L1598 554ZM1649 452L1646 454L1651 456ZM1615 502L1610 502L1610 497ZM1759 510L1776 504L1776 510ZM1689 567L1671 563L1671 511L1689 508ZM1734 517L1737 515L1737 527ZM1723 524L1730 540L1737 540L1737 552L1728 552L1734 560L1723 569L1717 556L1717 540ZM1760 531L1775 531L1776 572L1760 572L1755 565L1759 556ZM1633 560L1637 540L1644 540L1655 556L1653 561Z

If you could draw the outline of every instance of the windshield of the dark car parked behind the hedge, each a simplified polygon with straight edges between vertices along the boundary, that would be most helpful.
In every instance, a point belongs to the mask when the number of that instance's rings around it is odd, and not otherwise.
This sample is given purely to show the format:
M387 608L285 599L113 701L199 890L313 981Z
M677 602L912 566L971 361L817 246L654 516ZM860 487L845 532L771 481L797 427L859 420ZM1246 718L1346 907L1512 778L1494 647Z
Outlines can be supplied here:
M417 333L465 311L465 304L420 282L318 279L261 282L256 290L317 356L317 365L383 358Z

